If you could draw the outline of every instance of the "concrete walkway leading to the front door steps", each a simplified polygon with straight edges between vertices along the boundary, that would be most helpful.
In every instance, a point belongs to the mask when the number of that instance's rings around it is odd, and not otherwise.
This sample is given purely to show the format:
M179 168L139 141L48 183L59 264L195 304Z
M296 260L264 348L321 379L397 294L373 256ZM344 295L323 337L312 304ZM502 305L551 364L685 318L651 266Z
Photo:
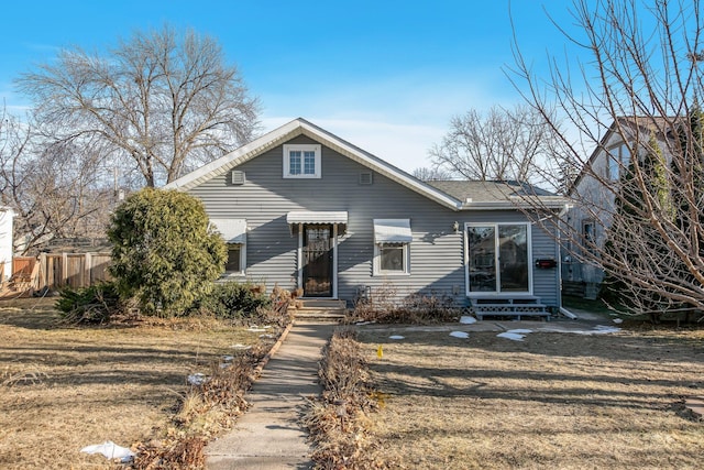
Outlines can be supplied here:
M331 323L296 321L245 396L252 407L229 434L206 448L208 469L312 468L300 416L304 397L321 392L318 361L334 327Z

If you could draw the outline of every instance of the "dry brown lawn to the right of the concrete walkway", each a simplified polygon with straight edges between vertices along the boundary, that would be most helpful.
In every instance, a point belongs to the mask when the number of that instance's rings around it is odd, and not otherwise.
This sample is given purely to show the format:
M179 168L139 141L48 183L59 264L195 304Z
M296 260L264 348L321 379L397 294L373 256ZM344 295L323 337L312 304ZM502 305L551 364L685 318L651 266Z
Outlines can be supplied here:
M683 397L704 394L702 331L534 332L525 342L403 335L359 335L385 397L372 416L372 460L407 469L702 466L704 425L683 407Z

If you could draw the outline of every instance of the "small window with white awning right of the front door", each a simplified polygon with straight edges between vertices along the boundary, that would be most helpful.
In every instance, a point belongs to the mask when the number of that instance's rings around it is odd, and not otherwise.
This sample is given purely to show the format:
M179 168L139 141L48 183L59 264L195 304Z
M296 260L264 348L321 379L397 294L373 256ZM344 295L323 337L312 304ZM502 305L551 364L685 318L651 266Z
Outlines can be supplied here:
M374 275L410 274L410 219L374 219Z

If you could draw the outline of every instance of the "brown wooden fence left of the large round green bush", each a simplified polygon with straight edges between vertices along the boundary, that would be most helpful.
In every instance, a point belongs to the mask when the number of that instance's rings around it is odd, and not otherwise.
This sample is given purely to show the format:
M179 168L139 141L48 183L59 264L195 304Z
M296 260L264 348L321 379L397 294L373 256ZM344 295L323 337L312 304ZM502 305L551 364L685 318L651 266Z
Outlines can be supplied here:
M12 280L35 291L44 287L87 287L109 281L110 253L42 253L38 258L15 256Z

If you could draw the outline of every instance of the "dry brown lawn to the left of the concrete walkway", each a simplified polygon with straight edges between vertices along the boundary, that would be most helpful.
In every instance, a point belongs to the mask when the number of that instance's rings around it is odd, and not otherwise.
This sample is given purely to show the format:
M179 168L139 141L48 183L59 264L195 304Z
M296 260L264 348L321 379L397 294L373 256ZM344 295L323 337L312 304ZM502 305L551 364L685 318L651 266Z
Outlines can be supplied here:
M66 327L53 302L0 303L2 469L109 468L102 456L79 450L105 440L130 447L187 438L179 419L197 422L179 405L187 375L242 354L233 345L260 341L261 332L215 319ZM198 423L198 434L215 433L217 424ZM186 447L201 446L197 440ZM182 445L167 450L185 452Z

